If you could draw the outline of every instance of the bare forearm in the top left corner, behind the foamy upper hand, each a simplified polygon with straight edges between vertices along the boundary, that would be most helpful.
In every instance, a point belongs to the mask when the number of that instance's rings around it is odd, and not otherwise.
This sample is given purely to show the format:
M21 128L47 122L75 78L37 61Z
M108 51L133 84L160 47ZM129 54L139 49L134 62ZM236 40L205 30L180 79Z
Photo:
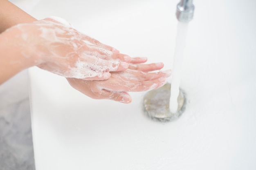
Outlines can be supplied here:
M8 0L0 0L0 7L0 33L19 23L36 21L35 18Z

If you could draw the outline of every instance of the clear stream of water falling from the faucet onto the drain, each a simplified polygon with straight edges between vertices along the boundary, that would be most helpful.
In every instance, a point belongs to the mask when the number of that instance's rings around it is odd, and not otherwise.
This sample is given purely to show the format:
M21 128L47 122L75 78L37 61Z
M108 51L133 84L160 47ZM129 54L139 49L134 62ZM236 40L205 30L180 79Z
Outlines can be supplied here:
M172 82L171 82L171 97L170 97L170 112L176 113L178 109L177 98L180 93L180 80L182 72L183 55L186 46L186 34L188 30L188 22L178 22L177 34L176 34L176 45L173 57L173 71L172 71Z

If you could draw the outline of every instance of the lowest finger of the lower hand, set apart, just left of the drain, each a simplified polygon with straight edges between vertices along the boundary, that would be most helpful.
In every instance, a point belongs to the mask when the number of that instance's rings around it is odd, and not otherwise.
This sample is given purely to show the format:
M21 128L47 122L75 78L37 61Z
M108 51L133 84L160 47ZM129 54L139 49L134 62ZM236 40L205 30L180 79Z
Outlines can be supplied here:
M132 98L127 92L122 91L108 91L106 89L102 89L104 93L101 94L101 99L110 99L121 103L130 103L132 102Z

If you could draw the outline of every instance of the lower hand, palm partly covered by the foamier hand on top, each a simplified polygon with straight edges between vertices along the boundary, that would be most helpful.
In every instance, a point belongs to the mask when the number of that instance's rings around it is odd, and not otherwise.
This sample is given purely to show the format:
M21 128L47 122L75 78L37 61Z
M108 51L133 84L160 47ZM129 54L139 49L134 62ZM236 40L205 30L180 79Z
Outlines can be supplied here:
M86 81L67 78L70 85L93 99L111 99L122 103L130 103L127 92L148 91L163 86L171 70L149 73L163 68L162 63L139 64L145 58L132 59L126 71L111 73L111 77L102 81Z

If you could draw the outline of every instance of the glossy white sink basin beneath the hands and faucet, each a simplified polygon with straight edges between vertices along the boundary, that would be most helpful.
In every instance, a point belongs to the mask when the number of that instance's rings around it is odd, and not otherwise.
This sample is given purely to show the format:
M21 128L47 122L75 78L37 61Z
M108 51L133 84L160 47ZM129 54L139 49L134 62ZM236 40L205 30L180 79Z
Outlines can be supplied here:
M31 14L65 18L130 56L172 67L174 0L43 0ZM195 1L177 121L131 104L94 100L65 78L29 69L36 170L256 169L256 1Z

